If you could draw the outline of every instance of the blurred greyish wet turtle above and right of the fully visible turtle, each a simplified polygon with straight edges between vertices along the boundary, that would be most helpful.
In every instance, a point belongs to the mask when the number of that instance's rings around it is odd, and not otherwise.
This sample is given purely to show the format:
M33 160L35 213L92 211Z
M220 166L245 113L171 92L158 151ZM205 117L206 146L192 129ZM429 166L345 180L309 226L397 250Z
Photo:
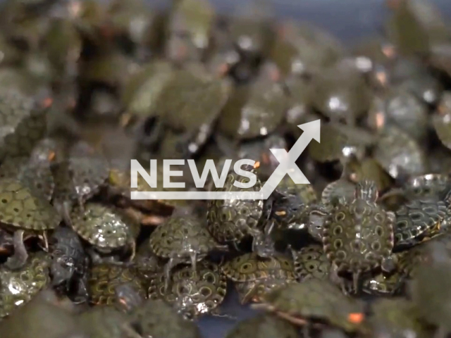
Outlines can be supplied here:
M381 132L373 156L395 180L427 172L426 158L419 144L394 126L387 126Z

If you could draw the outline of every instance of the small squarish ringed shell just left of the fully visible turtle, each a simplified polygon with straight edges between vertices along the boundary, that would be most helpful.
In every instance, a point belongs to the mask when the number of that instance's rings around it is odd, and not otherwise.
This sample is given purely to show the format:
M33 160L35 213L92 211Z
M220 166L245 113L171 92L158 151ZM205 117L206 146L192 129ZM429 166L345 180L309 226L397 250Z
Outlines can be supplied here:
M292 251L295 274L299 282L311 278L326 280L330 272L330 261L322 245L310 244L299 251Z

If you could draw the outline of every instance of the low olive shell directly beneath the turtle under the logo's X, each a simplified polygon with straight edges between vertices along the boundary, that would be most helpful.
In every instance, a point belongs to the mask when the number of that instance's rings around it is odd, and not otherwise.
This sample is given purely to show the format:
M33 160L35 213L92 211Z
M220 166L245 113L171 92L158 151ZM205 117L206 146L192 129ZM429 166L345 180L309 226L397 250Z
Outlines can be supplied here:
M268 278L295 279L292 260L280 254L261 258L257 253L245 253L224 263L221 268L234 282L253 282Z

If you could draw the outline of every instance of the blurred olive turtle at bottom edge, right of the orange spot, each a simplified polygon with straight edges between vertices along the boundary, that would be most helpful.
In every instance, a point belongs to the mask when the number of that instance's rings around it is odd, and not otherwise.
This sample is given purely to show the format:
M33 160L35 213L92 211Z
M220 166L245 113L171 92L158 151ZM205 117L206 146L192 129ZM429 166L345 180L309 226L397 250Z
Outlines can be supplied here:
M389 336L406 337L414 334L415 337L428 337L427 332L419 318L418 310L412 301L407 299L376 299L371 303L372 315L364 325L369 326L369 331L383 327Z

